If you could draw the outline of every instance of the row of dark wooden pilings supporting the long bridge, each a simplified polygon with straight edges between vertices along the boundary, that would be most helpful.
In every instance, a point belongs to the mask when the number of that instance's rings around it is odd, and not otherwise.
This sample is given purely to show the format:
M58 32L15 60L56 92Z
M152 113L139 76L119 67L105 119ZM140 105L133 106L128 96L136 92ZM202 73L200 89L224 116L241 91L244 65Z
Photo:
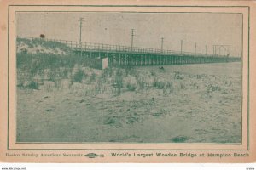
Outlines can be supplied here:
M80 52L78 51L77 54ZM108 58L111 66L143 66L143 65L186 65L204 63L224 63L238 61L237 58L218 56L195 56L181 54L138 54L138 53L106 53L84 51L82 55L90 58Z

